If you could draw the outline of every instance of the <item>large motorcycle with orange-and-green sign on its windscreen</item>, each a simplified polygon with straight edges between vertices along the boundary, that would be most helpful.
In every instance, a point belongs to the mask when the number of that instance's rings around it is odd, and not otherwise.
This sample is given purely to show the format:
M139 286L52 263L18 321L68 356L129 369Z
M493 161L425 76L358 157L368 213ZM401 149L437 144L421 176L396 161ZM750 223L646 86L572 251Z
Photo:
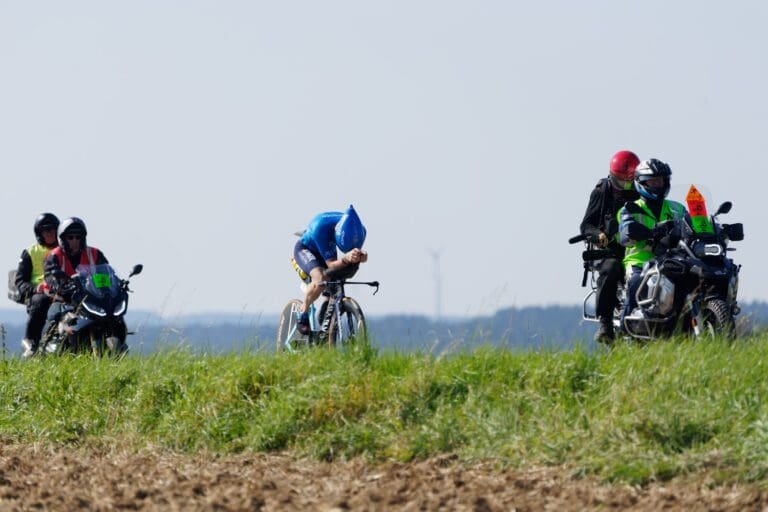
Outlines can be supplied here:
M720 224L719 215L728 213L732 203L726 201L710 217L712 233L694 231L685 219L659 223L651 241L654 258L641 271L640 285L635 295L637 306L622 315L627 301L627 288L620 286L619 304L614 311L614 327L624 335L650 340L675 332L694 337L724 335L735 331L735 317L740 312L737 302L741 265L728 257L735 251L729 242L744 239L743 225ZM611 251L593 249L592 240L583 236L571 243L585 241L582 254L584 279L592 273L592 290L583 303L583 318L597 321L589 310L590 299L596 293L594 262L613 256Z

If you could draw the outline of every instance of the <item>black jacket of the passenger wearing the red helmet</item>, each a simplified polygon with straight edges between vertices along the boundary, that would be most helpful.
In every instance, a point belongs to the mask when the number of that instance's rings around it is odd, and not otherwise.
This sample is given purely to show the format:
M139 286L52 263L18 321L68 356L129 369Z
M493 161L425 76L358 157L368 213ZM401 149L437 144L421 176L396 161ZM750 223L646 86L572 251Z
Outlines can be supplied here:
M596 239L600 232L605 233L611 241L610 248L623 253L623 248L616 242L615 236L619 231L616 213L627 201L635 201L640 195L635 190L616 192L609 178L597 182L589 195L587 211L581 221L581 234Z

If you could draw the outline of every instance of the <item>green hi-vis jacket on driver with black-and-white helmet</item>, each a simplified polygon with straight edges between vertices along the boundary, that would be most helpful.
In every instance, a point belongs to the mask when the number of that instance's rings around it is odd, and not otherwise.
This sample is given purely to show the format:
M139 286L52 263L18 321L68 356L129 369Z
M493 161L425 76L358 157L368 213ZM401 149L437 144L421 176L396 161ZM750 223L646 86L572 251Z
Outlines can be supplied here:
M685 219L688 212L685 206L676 202L664 200L661 207L661 215L657 219L642 197L634 203L624 205L616 217L619 220L619 242L627 248L624 254L624 268L642 267L653 258L651 245L647 240L633 240L629 235L632 231L632 223L638 222L648 229L653 229L659 222L665 220Z

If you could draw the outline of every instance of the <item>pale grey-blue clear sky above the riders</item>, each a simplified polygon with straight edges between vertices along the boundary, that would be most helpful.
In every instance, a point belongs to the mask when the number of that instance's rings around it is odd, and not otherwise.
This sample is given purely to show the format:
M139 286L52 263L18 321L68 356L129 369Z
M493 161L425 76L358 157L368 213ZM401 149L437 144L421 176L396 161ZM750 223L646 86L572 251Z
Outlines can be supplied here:
M369 314L434 312L430 250L446 314L577 303L566 240L629 148L734 202L741 297L768 299L766 22L760 1L0 1L6 266L51 210L144 263L134 308L274 314L292 233L352 203Z

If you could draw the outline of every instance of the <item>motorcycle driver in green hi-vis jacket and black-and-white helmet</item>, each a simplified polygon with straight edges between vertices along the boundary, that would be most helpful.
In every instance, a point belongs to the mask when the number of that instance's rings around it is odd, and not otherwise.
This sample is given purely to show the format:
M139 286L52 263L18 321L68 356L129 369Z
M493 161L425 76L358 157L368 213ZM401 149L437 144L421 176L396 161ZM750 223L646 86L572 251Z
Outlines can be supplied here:
M640 199L627 203L618 213L619 242L626 247L624 267L627 275L627 300L623 318L637 307L637 288L643 265L653 258L653 245L663 237L671 237L657 226L669 220L686 219L688 211L681 203L666 199L669 194L672 169L656 158L645 160L635 169L635 188ZM669 240L667 240L668 245Z

